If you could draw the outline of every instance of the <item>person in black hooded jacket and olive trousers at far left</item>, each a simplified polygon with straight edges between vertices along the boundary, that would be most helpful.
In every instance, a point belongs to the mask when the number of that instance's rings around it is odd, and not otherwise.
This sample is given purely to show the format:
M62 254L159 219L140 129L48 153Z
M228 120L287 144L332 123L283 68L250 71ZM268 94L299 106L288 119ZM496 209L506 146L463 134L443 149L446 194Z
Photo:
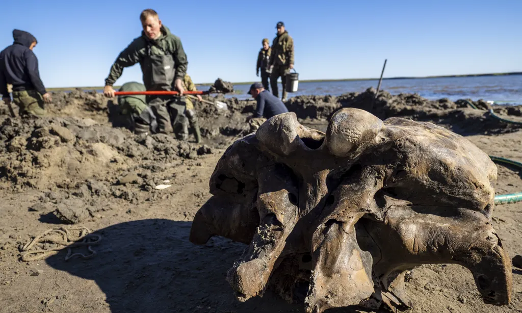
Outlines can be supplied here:
M15 42L0 52L0 93L10 105L7 84L13 85L13 102L20 108L20 115L45 114L43 102L52 101L45 90L38 71L38 59L32 52L36 38L28 32L13 30Z

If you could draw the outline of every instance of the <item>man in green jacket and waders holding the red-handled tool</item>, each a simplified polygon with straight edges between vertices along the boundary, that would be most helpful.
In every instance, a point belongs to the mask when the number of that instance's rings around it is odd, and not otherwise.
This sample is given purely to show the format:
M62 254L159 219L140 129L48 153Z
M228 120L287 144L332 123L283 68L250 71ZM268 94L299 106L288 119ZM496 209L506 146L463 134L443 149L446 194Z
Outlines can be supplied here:
M145 88L150 90L177 90L184 92L183 77L187 71L187 56L179 37L161 24L155 10L146 9L140 15L143 32L134 39L116 58L109 77L105 79L103 93L114 97L112 86L123 73L125 67L139 63L143 73ZM161 133L168 133L172 125L177 139L188 139L188 119L185 116L185 97L152 95L147 103L156 115ZM169 123L170 121L170 123Z

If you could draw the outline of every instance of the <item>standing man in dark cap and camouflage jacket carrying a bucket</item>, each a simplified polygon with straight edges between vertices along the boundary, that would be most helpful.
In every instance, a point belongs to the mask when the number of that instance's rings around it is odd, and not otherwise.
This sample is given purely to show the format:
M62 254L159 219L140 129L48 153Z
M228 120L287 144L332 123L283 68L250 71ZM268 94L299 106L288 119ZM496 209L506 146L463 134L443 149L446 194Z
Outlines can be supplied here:
M277 23L277 37L272 42L272 53L270 55L269 71L270 74L270 85L272 87L272 94L279 97L277 90L277 79L281 77L281 83L283 87L283 98L282 101L287 101L287 81L286 75L290 69L293 68L294 62L294 49L293 39L288 34L288 31L284 29L284 23Z

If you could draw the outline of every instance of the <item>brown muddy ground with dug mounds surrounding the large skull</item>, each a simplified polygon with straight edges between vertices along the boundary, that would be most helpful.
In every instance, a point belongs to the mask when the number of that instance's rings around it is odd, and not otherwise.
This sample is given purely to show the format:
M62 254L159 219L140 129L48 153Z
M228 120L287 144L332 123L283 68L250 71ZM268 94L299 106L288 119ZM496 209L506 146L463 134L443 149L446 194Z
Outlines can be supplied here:
M383 119L430 121L467 136L490 155L522 161L518 127L487 111L521 121L520 107L491 108L477 101L474 110L465 101L387 92L372 105L374 94L295 97L287 106L319 130L348 106ZM46 106L49 117L41 119L8 117L0 103L0 312L302 312L302 304L286 303L270 291L245 303L235 300L225 276L243 244L221 237L206 246L188 242L192 218L210 196L213 168L224 149L248 133L244 122L255 106L217 99L229 110L196 104L205 136L200 145L171 135L135 136L118 107L96 93L56 93ZM522 173L498 167L496 192L521 191ZM162 184L171 187L157 190ZM102 236L93 246L96 256L64 261L63 249L43 260L20 260L34 236L70 224ZM495 208L493 226L510 256L522 254L521 225L520 204ZM74 251L88 253L85 247ZM495 307L482 303L471 273L460 266L414 269L407 283L411 312L520 312L521 273L513 269L511 305Z

